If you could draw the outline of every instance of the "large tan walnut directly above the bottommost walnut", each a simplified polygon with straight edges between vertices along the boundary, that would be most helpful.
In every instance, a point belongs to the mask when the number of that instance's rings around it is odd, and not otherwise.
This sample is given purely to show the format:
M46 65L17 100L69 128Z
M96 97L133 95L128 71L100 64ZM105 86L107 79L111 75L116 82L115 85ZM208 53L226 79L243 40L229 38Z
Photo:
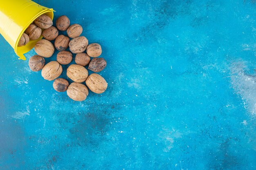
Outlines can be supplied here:
M82 83L88 77L88 70L81 65L72 64L67 68L67 77L77 83Z

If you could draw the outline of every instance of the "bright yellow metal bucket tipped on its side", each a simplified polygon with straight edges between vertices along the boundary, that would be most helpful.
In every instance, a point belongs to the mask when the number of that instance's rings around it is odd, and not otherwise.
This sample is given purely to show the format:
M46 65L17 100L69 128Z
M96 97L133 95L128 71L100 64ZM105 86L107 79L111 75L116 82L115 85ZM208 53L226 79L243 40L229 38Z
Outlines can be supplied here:
M0 4L0 34L14 49L19 59L26 60L24 54L34 48L31 40L25 46L18 47L20 37L27 27L40 15L48 15L53 20L53 9L43 7L31 0L2 0Z

